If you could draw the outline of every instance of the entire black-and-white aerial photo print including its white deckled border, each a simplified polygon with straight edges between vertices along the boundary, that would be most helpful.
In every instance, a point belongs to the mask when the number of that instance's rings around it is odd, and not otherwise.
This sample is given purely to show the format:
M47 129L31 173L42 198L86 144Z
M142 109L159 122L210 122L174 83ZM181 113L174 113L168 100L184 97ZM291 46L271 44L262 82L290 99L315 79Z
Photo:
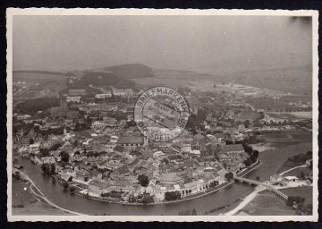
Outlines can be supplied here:
M7 10L9 221L317 221L318 13Z

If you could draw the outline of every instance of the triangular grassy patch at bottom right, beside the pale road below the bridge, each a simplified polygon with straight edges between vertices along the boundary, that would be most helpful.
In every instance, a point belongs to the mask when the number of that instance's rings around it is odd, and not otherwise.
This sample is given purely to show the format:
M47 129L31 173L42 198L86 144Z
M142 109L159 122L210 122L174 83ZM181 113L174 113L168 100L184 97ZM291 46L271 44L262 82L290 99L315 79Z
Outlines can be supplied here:
M286 206L283 199L275 196L271 191L261 191L255 199L242 208L251 216L295 216L295 211Z

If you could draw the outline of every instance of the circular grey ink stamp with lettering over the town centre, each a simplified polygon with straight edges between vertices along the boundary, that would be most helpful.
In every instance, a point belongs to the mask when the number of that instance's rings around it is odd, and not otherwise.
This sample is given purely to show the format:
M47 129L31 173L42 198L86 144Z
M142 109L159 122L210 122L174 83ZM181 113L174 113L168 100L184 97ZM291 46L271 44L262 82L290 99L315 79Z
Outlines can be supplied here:
M189 116L187 100L169 87L147 89L134 106L134 121L149 140L173 140L182 134Z

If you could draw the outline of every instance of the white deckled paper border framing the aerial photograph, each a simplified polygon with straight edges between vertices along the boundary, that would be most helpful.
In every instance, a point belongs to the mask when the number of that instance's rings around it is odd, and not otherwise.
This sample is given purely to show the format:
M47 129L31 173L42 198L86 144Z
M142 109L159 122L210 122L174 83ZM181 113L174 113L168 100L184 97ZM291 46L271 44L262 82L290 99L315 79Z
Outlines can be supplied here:
M15 15L284 15L312 17L312 64L313 64L313 216L13 216L12 213L12 162L13 157L13 16ZM7 217L8 221L318 221L318 11L272 11L272 10L151 10L151 9L7 9Z

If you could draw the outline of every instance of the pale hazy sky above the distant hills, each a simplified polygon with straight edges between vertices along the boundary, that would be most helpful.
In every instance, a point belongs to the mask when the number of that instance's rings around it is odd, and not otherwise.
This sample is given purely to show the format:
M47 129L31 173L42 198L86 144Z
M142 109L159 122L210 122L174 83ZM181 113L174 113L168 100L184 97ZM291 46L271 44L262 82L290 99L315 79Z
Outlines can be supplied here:
M311 40L311 21L291 17L13 16L13 69L282 68L311 64Z

